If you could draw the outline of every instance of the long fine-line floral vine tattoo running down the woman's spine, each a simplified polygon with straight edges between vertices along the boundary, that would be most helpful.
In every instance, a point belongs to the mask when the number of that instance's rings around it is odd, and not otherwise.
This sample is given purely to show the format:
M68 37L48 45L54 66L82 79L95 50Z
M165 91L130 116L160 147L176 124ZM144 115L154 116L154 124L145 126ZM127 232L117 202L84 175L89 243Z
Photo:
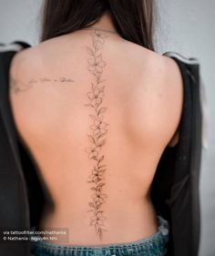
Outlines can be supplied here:
M94 166L91 169L87 182L92 184L90 188L92 190L91 201L88 203L89 212L91 212L90 226L94 226L97 236L101 241L105 229L104 210L102 206L107 198L107 195L103 192L105 185L104 174L107 170L107 165L103 163L104 154L101 152L101 148L106 144L107 135L107 122L104 121L104 113L107 108L102 106L103 98L105 96L105 86L102 86L104 80L101 79L104 67L107 63L102 58L102 48L105 44L106 36L103 36L100 31L95 30L92 34L92 46L87 46L87 53L89 55L88 71L93 75L94 80L91 82L91 89L87 92L87 98L89 103L85 104L88 108L91 108L92 114L89 117L92 119L92 125L90 126L91 134L87 137L90 142L90 147L85 151L88 154L88 159L94 160Z

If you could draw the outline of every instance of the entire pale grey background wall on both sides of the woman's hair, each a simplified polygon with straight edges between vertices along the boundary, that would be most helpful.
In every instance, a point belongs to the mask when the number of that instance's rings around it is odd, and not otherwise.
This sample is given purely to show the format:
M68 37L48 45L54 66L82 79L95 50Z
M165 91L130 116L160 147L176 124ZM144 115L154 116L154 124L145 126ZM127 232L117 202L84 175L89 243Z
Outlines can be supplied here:
M38 41L42 0L0 0L0 42ZM215 1L157 0L158 50L200 59L210 108L209 148L203 150L200 174L200 256L215 255ZM214 72L214 73L213 73Z

